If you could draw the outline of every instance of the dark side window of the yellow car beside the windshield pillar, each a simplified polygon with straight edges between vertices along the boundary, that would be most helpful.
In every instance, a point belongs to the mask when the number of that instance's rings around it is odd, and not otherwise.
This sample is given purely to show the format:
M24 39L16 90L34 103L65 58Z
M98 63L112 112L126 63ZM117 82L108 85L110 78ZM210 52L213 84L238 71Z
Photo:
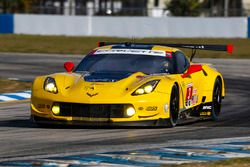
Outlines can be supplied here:
M175 57L176 57L177 73L178 74L184 73L190 65L188 59L182 52L179 52L179 51L175 53Z

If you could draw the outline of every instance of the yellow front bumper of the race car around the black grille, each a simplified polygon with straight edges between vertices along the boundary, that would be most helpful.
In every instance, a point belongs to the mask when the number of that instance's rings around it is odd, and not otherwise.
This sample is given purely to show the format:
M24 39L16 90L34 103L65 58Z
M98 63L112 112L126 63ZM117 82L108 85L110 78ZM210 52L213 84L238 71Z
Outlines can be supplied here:
M43 95L44 94L44 95ZM154 96L152 96L154 95ZM119 124L119 123L128 123L134 124L137 122L143 123L144 121L152 121L153 123L159 119L168 119L169 118L169 109L166 107L168 105L168 95L163 93L152 93L152 95L145 95L141 98L138 97L129 97L129 98L120 98L120 99L109 99L109 98L102 98L102 99L95 99L94 97L91 98L92 101L89 99L83 100L76 100L76 98L65 98L59 95L51 95L51 94L32 94L31 98L31 115L36 118L44 118L47 122L63 122L63 124ZM164 98L163 98L164 97ZM56 99L56 100L55 100ZM111 102L111 103L110 103ZM65 104L76 104L76 105L63 105L63 112L62 114L55 115L52 113L52 106L55 103L65 103ZM110 115L103 114L104 117L99 116L99 114L83 114L77 113L85 112L85 106L81 105L103 105L104 108L107 105L116 105L113 112ZM117 107L119 105L124 106L133 106L136 113L131 117L126 117L121 113L116 113ZM102 106L102 107L103 107ZM126 107L125 107L126 108ZM78 110L79 109L79 110ZM70 114L67 114L69 111ZM93 109L91 109L93 111ZM87 111L89 112L89 111ZM103 113L103 111L101 111ZM111 112L110 112L111 113ZM93 117L92 117L93 116ZM43 121L40 120L39 121ZM146 123L148 124L148 123Z

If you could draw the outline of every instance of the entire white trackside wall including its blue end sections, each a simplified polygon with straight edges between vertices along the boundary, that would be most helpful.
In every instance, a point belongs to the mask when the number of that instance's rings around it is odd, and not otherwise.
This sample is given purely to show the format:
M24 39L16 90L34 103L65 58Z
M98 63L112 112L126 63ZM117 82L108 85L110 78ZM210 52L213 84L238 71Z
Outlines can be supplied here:
M2 14L0 33L127 38L250 38L250 18Z

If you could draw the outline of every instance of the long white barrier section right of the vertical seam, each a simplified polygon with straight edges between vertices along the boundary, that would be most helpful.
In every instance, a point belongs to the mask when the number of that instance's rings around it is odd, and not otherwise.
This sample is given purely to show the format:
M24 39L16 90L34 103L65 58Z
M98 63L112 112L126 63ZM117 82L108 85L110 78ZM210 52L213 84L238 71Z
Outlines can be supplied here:
M246 38L247 18L93 17L93 36Z

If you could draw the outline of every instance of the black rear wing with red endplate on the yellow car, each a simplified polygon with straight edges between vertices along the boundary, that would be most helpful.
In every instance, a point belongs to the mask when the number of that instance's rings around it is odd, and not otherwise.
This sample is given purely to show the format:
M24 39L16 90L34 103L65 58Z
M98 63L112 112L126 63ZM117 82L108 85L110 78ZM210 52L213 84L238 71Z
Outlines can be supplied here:
M167 43L130 43L130 42L123 42L123 43L116 43L116 42L99 42L98 46L106 46L106 45L125 45L125 46L137 46L137 45L147 45L147 46L168 46L168 47L175 47L175 48L186 48L192 49L192 54L190 56L190 61L192 61L193 57L195 56L196 50L211 50L211 51L226 51L229 54L233 53L234 46L232 44L228 45L203 45L203 44L167 44Z

